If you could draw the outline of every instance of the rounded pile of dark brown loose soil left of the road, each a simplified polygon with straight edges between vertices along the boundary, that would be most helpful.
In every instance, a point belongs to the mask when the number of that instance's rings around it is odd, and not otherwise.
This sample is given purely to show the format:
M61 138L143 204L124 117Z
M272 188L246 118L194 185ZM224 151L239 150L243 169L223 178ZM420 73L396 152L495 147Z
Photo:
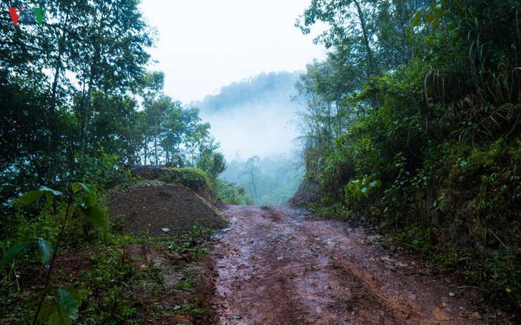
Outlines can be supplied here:
M111 195L107 206L123 233L168 236L186 232L193 225L209 229L226 226L215 207L182 185L139 183Z

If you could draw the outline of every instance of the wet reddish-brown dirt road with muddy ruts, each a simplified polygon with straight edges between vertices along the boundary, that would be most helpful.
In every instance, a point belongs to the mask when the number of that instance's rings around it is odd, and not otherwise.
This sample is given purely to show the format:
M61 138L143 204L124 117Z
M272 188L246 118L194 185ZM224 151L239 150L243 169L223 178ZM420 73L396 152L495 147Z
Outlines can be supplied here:
M221 324L482 324L472 296L378 236L288 206L223 207L216 249Z

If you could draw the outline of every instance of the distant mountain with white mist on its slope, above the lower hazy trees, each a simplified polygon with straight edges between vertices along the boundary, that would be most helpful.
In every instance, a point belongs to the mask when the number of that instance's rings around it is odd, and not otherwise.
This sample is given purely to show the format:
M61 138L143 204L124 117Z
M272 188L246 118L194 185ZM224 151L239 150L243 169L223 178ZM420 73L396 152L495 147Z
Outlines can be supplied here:
M300 73L262 73L191 103L200 108L203 121L212 125L211 133L228 161L295 149L292 141L299 133L290 120L298 105L290 98L297 94Z

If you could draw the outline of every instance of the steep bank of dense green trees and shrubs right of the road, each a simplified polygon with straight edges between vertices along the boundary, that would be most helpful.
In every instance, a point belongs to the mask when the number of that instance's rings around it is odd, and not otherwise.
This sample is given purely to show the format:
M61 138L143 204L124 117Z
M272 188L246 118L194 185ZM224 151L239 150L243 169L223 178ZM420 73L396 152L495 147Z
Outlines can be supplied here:
M322 213L369 219L521 306L521 3L311 1L328 59L298 82Z

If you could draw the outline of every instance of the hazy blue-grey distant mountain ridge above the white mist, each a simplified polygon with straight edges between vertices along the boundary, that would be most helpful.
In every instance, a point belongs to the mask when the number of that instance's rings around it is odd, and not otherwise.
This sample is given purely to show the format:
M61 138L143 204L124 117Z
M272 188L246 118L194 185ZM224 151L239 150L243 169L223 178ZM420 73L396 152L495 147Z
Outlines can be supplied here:
M208 95L191 105L211 114L237 106L289 103L290 97L296 94L295 82L301 73L303 71L261 73L224 86L218 94Z

